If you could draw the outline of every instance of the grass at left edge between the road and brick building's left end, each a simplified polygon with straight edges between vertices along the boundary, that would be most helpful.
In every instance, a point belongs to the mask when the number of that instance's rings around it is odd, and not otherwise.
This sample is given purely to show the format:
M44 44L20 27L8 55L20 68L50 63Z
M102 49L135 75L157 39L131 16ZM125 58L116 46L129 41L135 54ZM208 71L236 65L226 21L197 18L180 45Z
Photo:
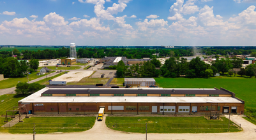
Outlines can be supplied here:
M6 110L13 110L13 106L18 106L18 101L20 101L24 97L27 97L27 95L22 95L22 94L1 95L0 99L1 101L4 100L4 102L0 103L0 116L5 115ZM9 112L8 115L11 115L11 113Z

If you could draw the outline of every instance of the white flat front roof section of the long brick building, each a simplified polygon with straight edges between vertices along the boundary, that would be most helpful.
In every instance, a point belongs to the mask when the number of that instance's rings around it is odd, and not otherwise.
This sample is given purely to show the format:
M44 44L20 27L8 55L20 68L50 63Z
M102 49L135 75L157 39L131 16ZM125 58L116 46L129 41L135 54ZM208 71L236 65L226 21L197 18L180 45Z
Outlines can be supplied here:
M41 96L43 92L49 88L43 88L38 92L29 95L28 97L20 100L23 103L43 103L43 102L179 102L179 103L243 103L233 97L52 97L52 96ZM104 88L103 88L104 89Z

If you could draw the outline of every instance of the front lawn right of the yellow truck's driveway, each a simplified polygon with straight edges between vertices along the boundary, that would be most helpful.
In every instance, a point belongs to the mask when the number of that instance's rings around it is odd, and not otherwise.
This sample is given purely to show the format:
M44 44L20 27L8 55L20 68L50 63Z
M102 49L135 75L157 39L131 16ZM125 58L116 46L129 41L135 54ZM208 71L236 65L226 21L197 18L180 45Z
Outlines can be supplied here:
M107 116L106 125L110 129L125 132L145 133L218 133L227 132L229 120L206 120L201 117L111 117ZM179 123L179 125L177 125ZM230 124L233 122L230 121ZM192 128L192 129L191 129ZM197 129L199 128L199 129ZM230 132L238 132L230 125Z

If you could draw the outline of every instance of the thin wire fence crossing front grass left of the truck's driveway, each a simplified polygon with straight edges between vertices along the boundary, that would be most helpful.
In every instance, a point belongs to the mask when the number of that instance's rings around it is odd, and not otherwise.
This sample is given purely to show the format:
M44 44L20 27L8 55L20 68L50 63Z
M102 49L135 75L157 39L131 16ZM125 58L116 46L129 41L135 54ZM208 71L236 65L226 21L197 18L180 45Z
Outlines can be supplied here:
M33 127L49 128L49 129L84 129L91 128L89 123L17 123L12 125L11 123L6 123L3 125L4 129L33 129Z

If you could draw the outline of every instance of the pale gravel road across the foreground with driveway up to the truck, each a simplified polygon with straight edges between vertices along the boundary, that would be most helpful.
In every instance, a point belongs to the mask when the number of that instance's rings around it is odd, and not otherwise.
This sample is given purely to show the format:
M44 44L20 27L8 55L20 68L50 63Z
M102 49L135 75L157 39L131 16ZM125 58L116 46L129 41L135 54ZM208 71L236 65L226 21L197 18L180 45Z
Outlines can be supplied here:
M92 129L84 132L74 132L74 133L64 133L64 134L36 134L35 139L37 140L79 140L79 139L111 139L111 140L124 140L124 139L134 139L141 140L145 139L145 134L139 133L129 133L129 132L119 132L116 130L111 130L105 125L105 118L103 117L102 122L95 122ZM230 116L231 120L235 120L238 123L241 123L243 127L242 132L233 132L233 133L209 133L209 134L147 134L147 139L224 139L224 140L234 140L234 139L256 139L256 125L246 121L241 118L239 115ZM32 139L32 134L0 134L1 139L13 139L13 140L27 140Z

